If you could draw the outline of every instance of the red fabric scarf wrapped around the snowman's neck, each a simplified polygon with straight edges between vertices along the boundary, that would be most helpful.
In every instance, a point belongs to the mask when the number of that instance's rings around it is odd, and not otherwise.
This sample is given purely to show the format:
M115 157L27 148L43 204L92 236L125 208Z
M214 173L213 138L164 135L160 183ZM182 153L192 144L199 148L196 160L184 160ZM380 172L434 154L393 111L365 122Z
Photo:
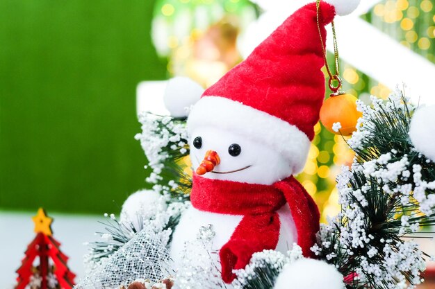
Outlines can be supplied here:
M275 249L279 239L277 209L286 201L297 229L297 243L304 256L312 256L310 247L319 230L320 214L311 196L294 177L268 186L206 179L193 175L192 206L201 211L243 215L228 243L220 249L222 279L230 283L233 270L245 268L252 254Z

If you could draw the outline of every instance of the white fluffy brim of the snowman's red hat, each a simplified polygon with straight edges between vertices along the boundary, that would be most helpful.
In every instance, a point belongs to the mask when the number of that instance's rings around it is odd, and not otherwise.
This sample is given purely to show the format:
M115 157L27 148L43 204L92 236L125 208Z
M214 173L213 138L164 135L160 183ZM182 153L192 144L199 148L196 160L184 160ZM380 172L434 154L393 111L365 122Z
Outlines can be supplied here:
M188 132L202 126L230 130L278 150L293 174L304 168L311 141L295 125L253 107L220 96L201 98L188 117Z

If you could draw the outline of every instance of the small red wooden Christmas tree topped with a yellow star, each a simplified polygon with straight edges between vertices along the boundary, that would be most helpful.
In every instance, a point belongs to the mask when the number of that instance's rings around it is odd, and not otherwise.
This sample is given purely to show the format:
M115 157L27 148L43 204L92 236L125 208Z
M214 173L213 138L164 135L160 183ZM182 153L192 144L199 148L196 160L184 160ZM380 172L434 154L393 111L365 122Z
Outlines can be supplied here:
M26 256L17 270L15 289L26 286L31 289L71 289L76 275L69 271L68 257L60 251L60 243L52 237L50 226L53 219L42 208L32 219L36 236L27 246Z

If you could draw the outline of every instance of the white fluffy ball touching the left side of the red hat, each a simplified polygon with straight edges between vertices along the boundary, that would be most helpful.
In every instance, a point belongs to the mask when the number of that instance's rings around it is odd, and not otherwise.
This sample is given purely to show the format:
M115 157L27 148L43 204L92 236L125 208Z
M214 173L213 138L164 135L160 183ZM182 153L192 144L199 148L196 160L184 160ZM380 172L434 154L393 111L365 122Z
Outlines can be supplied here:
M187 109L201 98L204 88L190 78L177 76L167 82L163 102L173 117L188 116Z

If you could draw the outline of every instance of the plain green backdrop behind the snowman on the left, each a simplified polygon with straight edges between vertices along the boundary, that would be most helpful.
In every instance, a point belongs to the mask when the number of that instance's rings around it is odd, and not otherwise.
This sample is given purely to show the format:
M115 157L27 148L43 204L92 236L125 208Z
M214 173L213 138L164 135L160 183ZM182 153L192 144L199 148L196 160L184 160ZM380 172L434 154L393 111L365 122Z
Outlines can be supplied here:
M117 213L145 186L151 0L0 1L0 209Z

